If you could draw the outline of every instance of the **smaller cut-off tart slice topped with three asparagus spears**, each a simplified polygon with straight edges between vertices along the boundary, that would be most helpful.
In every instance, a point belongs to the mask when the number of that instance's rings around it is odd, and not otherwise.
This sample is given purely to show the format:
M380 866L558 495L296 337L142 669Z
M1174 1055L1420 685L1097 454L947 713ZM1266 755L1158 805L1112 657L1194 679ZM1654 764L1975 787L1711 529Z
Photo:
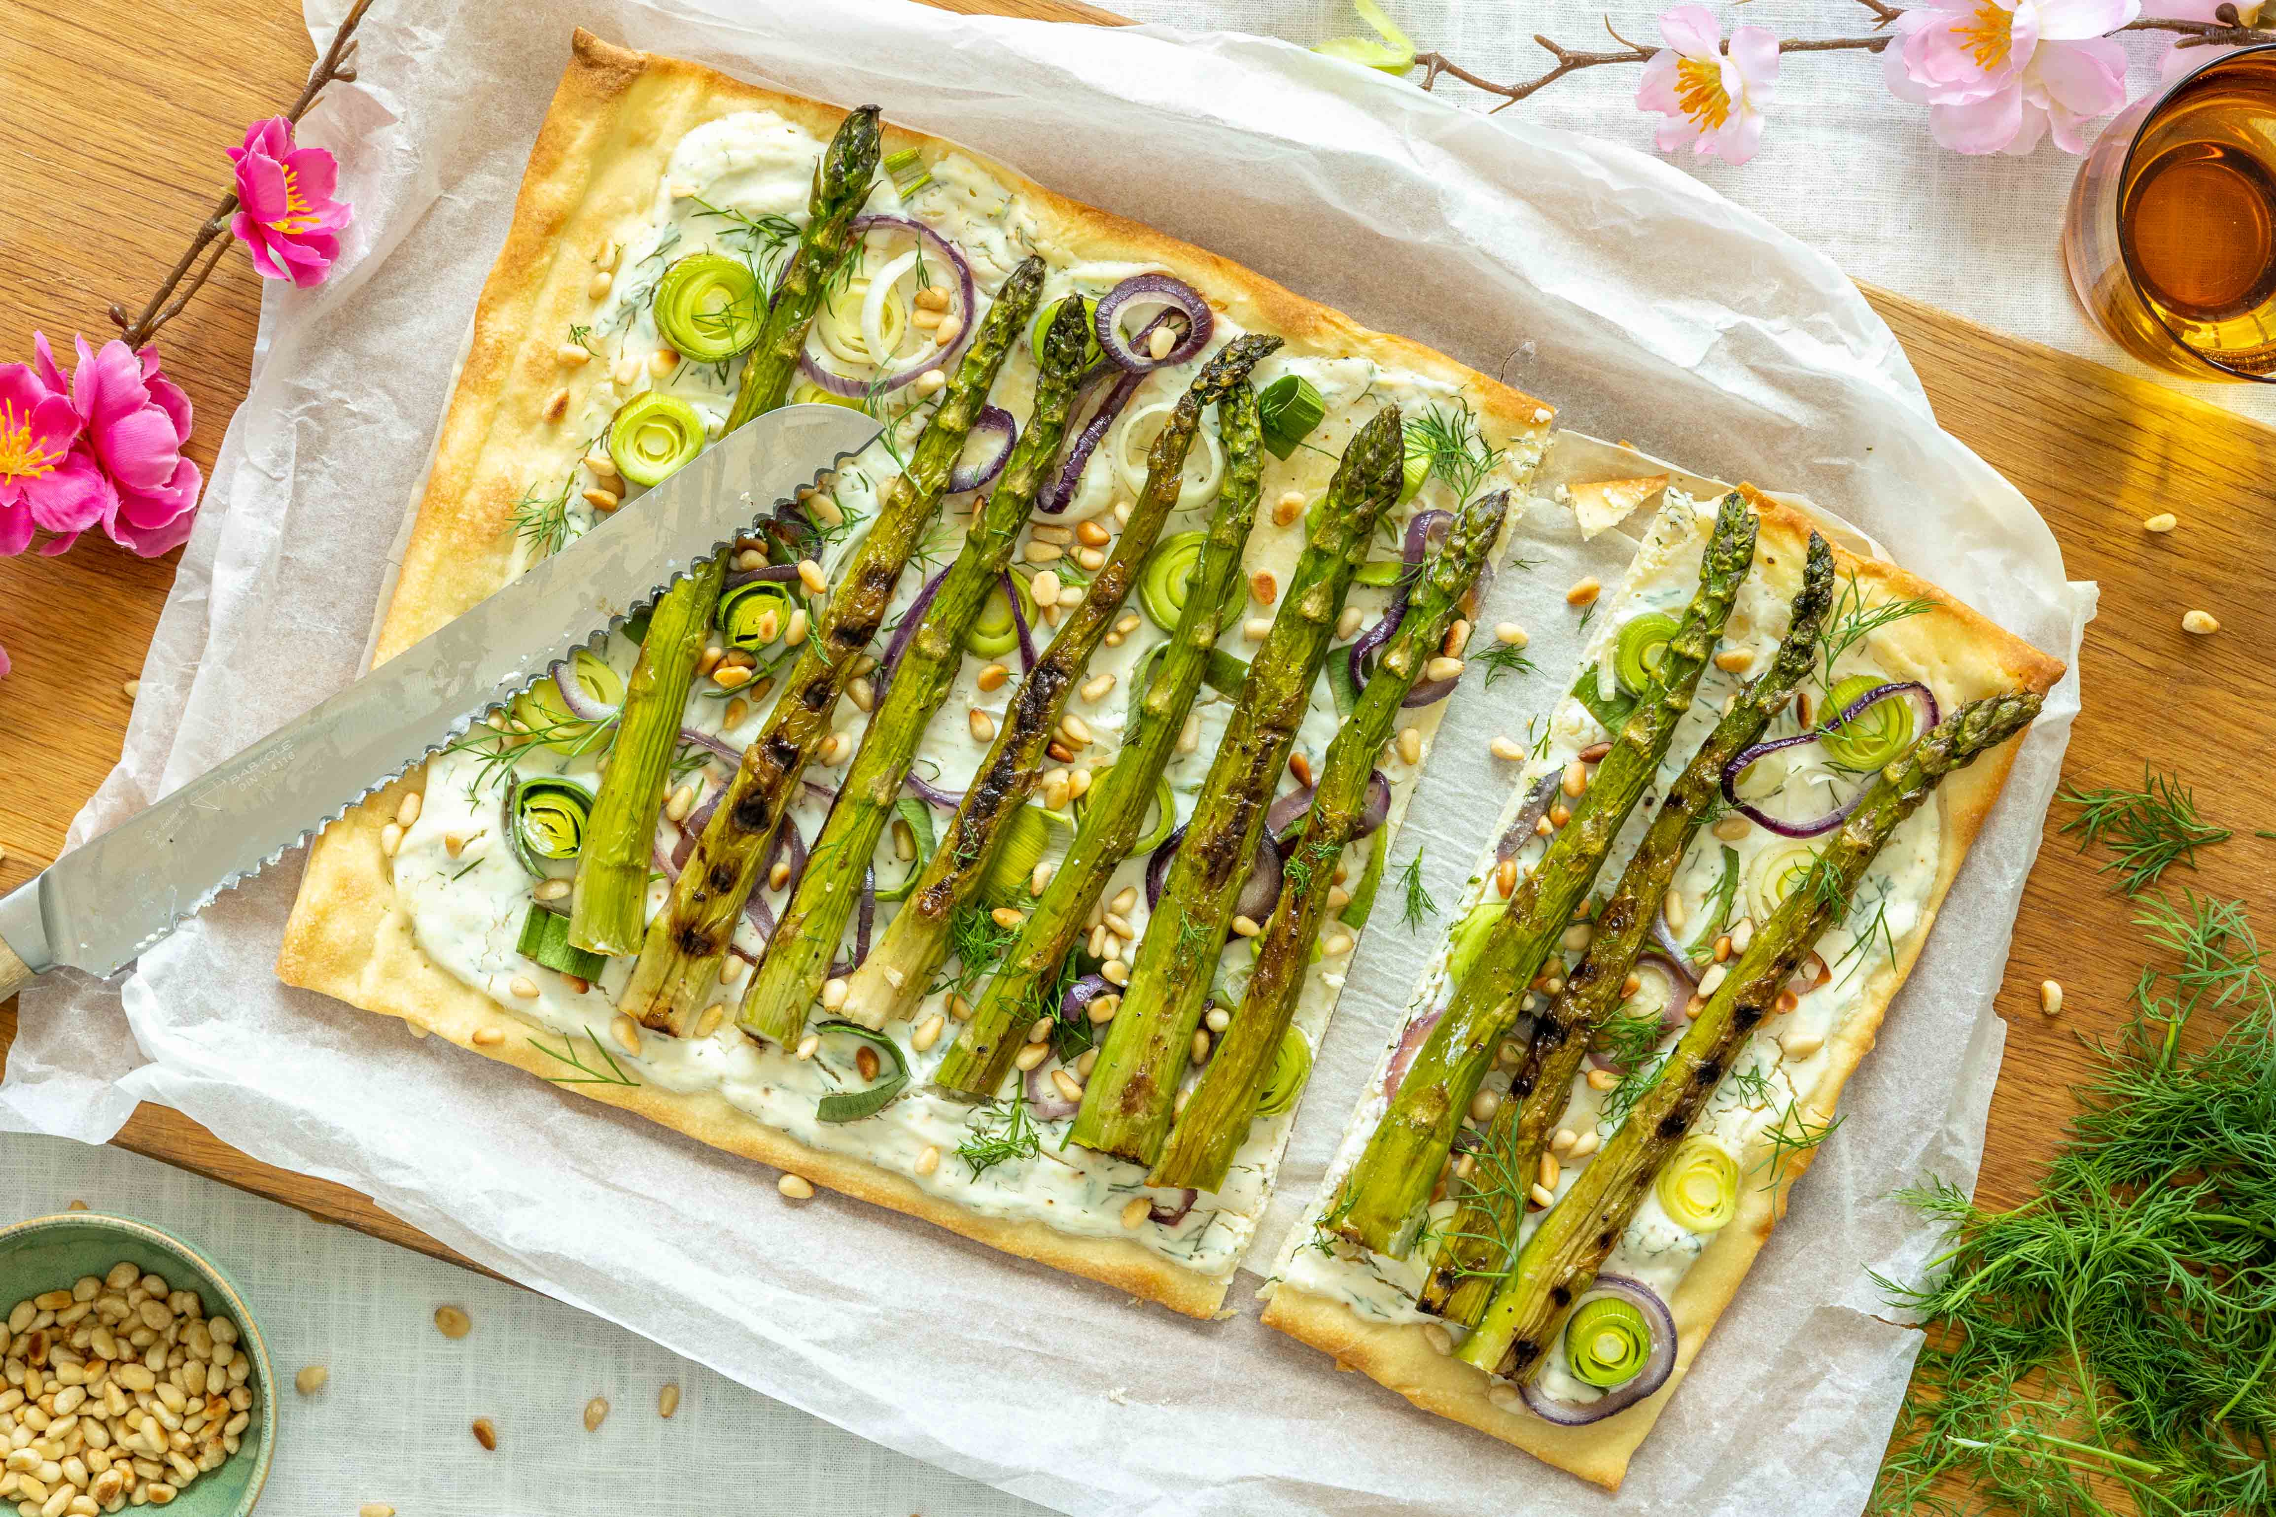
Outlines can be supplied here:
M1748 487L1555 489L1657 509L1263 1319L1616 1487L2062 664Z

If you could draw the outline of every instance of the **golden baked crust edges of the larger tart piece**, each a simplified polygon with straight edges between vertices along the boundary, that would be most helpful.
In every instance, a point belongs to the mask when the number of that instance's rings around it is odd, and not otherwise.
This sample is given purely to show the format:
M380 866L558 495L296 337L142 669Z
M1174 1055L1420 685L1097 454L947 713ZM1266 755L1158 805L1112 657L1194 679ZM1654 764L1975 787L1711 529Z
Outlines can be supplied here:
M376 657L407 648L512 578L512 507L521 484L539 473L539 464L558 466L562 448L574 446L558 423L576 414L580 387L599 380L599 364L562 368L558 343L544 334L564 332L589 314L587 287L601 250L628 216L649 207L681 136L744 109L778 111L824 139L844 116L831 105L576 32L569 68L530 150L512 230L483 287L473 341L444 414ZM1070 262L1158 264L1204 291L1240 328L1284 337L1290 355L1372 357L1461 387L1489 434L1539 441L1548 432L1548 407L1532 396L1407 339L1370 332L1238 264L1054 196L938 136L888 125L885 150L904 148L915 148L926 161L958 152L990 168L1022 196L1047 252ZM1425 732L1429 726L1425 721ZM396 898L378 839L401 796L423 785L423 771L414 771L316 839L278 953L278 976L362 1010L401 1017L530 1073L558 1073L560 1067L528 1044L530 1023L439 969L412 939L410 912ZM1184 1269L1136 1242L981 1217L863 1160L808 1149L715 1094L617 1085L578 1085L576 1092L1193 1317L1215 1312L1231 1283L1229 1274Z

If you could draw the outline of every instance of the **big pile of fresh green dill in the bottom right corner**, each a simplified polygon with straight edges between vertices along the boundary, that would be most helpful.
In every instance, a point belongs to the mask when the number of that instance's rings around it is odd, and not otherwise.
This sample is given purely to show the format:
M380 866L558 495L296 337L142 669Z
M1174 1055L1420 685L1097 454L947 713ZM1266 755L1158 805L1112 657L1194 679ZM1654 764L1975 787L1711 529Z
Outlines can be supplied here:
M2242 903L2137 905L2160 962L2039 1196L1905 1194L1948 1246L1880 1280L1930 1340L1875 1512L2276 1506L2276 980ZM2201 1019L2228 1026L2185 1037Z

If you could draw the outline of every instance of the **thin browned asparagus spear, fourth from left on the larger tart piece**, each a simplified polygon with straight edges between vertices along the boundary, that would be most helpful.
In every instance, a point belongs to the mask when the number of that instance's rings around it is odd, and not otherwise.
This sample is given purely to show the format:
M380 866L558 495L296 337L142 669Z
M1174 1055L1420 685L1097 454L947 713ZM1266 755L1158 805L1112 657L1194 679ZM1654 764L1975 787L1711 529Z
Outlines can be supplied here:
M1036 669L1020 682L995 741L972 776L972 787L940 835L940 851L885 926L885 937L847 983L847 1014L856 1021L881 1028L894 1017L908 1017L924 998L933 969L949 951L949 919L979 889L1004 839L1004 826L1036 789L1042 751L1063 723L1067 696L1131 585L1138 582L1138 569L1177 505L1186 478L1186 450L1193 446L1202 407L1243 382L1250 368L1279 346L1277 337L1236 337L1202 364L1202 373L1179 396L1147 453L1145 489L1122 534L1115 537L1113 553L1090 580L1081 605L1058 628L1058 637L1036 660Z

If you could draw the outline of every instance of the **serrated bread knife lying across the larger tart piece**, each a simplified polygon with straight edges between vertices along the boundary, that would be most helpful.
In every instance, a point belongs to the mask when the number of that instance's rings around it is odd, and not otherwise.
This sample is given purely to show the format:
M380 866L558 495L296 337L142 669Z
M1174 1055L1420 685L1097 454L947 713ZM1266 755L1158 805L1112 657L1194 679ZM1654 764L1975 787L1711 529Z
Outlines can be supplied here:
M0 998L57 964L125 969L178 921L653 603L876 432L872 416L842 405L758 416L426 641L55 860L0 898Z

